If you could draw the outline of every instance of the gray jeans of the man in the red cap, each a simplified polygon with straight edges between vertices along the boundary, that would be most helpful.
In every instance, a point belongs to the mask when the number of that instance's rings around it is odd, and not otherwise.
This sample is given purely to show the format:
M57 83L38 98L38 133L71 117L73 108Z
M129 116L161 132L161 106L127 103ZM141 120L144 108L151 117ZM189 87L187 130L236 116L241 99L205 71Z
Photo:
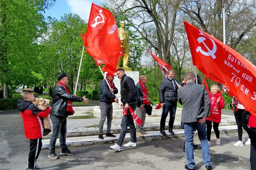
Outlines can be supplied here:
M100 102L100 123L99 134L103 133L103 125L107 117L107 133L110 133L111 122L113 119L113 106L112 103Z

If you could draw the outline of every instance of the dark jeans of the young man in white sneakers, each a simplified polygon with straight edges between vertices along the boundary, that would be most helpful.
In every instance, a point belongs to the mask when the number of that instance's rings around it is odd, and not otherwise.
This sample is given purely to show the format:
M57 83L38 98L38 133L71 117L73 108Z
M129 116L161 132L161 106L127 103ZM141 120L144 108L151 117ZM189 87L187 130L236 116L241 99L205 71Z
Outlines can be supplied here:
M123 104L123 108L124 108L124 106L125 106L125 103ZM136 103L131 103L131 104L129 104L129 106L131 106L133 111L136 110ZM122 118L122 121L121 121L121 133L120 133L120 136L119 136L118 141L117 141L117 144L119 146L122 146L122 144L123 144L123 140L125 138L128 126L130 127L131 142L137 142L136 128L135 128L135 125L134 125L133 117L128 112L127 116L123 115L123 118Z

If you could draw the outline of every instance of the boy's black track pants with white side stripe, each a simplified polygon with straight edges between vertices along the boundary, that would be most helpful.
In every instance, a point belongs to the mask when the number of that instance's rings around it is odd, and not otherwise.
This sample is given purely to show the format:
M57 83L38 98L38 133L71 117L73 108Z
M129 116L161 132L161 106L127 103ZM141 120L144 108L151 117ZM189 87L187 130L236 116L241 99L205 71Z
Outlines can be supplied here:
M42 138L30 139L30 148L28 154L28 168L34 169L36 159L42 148Z

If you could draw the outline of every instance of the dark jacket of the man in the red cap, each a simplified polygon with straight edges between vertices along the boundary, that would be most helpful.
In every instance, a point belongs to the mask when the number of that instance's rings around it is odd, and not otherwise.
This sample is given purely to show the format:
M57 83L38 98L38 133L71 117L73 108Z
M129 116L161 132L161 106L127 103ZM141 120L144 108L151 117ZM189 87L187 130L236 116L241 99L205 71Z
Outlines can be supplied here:
M113 83L113 85L114 85L114 89L113 89L114 94L117 94L118 90L115 87L114 83ZM114 99L116 97L114 94L109 91L109 87L108 87L106 80L105 79L102 80L100 83L100 102L112 103L112 102L110 102L110 99Z

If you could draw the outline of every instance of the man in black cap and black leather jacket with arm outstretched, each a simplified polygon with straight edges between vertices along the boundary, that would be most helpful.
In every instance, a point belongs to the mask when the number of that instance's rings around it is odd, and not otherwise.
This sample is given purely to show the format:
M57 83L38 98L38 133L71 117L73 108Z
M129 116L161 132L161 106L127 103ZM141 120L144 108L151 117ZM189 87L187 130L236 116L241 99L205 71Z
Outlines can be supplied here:
M86 102L88 99L84 97L78 97L76 95L71 95L67 89L69 83L68 74L61 73L58 75L58 84L54 88L52 96L52 110L51 110L51 122L52 122L52 135L49 144L49 155L48 158L58 159L59 156L55 153L55 144L59 136L59 143L61 146L61 155L73 155L67 148L66 144L66 133L67 133L67 116L74 114L72 108L72 102Z

